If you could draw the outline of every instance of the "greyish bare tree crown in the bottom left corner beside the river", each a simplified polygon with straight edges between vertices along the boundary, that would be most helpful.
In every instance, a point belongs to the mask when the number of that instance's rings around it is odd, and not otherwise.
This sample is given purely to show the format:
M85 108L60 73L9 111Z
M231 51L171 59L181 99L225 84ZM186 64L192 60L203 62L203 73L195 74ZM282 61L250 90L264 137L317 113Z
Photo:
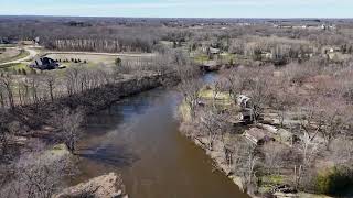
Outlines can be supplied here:
M51 198L63 187L63 178L72 172L72 167L66 157L51 158L43 152L34 151L15 162L13 178L0 194L9 198Z

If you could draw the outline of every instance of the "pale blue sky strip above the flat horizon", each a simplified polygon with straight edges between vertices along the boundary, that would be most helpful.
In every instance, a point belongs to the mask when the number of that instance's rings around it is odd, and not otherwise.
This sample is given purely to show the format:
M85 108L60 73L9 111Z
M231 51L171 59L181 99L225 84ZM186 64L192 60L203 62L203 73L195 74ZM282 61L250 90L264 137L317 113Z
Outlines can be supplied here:
M353 18L353 0L0 0L0 15Z

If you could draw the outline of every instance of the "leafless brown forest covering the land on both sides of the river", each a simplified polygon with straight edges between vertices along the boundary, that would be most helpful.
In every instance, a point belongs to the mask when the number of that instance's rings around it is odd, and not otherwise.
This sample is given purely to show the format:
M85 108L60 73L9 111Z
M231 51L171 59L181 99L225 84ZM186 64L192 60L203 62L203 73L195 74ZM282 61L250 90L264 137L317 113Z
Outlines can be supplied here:
M0 18L0 50L36 38L46 51L153 56L0 68L4 197L61 191L75 163L49 147L75 154L87 114L160 86L184 97L181 131L249 195L352 194L350 20ZM200 80L208 70L211 85Z

